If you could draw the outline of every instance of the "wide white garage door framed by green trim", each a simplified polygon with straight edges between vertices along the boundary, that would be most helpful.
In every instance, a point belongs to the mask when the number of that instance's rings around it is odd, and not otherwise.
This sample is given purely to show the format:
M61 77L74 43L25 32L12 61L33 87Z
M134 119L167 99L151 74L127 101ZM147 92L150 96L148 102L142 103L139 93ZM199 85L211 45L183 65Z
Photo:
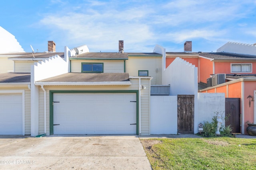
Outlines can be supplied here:
M53 98L54 134L136 134L136 94L54 94Z

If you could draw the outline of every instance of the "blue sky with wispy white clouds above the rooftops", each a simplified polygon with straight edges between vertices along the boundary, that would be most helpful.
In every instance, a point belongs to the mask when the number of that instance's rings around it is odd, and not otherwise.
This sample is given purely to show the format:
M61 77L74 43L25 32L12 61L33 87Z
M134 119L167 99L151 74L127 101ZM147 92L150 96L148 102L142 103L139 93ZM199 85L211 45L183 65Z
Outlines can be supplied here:
M24 51L152 52L156 44L182 52L215 52L228 41L256 43L256 0L6 0L0 26Z

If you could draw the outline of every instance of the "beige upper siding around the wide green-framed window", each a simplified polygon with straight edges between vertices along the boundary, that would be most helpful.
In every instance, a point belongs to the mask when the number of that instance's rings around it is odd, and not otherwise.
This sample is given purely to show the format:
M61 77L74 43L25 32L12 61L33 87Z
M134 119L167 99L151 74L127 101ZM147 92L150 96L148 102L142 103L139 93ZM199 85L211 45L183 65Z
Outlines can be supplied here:
M81 63L103 63L104 72L124 72L123 60L71 60L71 72L81 72Z

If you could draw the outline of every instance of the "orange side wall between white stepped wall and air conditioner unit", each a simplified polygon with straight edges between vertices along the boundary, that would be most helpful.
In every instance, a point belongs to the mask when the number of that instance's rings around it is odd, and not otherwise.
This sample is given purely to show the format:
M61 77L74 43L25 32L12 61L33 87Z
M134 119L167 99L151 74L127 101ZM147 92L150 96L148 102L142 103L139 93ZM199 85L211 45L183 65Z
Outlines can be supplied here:
M200 58L199 66L199 82L207 83L207 78L210 77L210 74L213 74L212 61L204 58Z

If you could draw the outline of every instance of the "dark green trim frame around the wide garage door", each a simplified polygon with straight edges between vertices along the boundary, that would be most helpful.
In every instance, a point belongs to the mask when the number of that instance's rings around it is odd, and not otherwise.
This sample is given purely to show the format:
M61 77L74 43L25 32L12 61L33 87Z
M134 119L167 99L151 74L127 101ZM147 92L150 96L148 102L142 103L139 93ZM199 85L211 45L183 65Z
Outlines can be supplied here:
M50 90L50 135L53 135L54 93L136 93L136 134L139 135L139 91L138 90Z

